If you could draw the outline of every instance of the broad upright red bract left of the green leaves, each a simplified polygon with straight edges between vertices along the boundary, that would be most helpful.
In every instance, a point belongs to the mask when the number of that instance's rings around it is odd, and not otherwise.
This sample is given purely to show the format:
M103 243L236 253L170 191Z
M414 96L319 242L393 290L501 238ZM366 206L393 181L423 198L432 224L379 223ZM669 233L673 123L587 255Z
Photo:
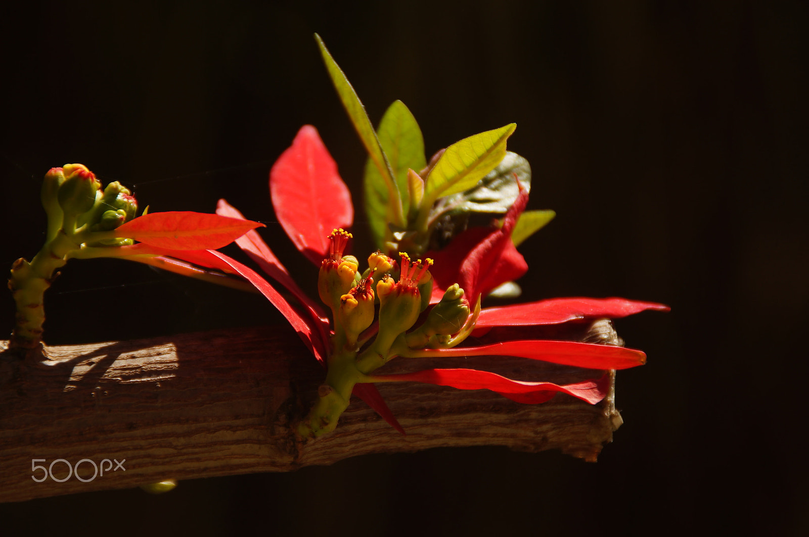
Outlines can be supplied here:
M317 129L303 125L269 171L273 209L286 235L312 263L328 257L328 235L354 222L351 194Z

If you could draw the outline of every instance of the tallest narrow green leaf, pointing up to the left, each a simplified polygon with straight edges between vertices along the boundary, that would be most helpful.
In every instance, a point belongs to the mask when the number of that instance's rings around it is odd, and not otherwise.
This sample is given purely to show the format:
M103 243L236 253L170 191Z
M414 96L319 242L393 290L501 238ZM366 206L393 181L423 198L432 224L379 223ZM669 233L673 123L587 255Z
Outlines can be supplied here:
M396 176L391 169L391 165L388 163L388 159L385 157L382 146L379 145L379 138L376 137L374 127L371 125L371 120L368 119L368 114L365 112L365 107L362 106L357 92L354 91L354 87L351 86L348 78L345 78L345 74L340 69L340 66L337 65L337 62L334 61L334 58L328 52L328 49L326 49L323 40L320 39L320 36L317 34L315 34L315 40L320 47L320 54L323 56L328 75L332 78L334 89L337 90L337 95L340 97L345 112L348 112L349 119L351 123L354 124L354 129L357 129L362 145L365 146L368 155L374 162L374 166L385 182L385 187L388 189L388 197L392 200L389 205L394 212L393 216L395 218L393 222L400 222L403 213L399 197L399 188L396 186Z

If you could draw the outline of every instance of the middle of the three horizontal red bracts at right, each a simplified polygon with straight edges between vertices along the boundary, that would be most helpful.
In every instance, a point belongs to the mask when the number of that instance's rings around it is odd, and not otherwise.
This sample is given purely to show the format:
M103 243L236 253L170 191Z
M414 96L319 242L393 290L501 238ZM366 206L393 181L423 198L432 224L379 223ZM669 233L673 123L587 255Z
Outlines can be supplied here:
M455 347L454 349L414 350L409 357L441 356L516 356L551 362L563 366L586 367L588 369L610 370L627 369L646 363L646 354L635 349L614 345L596 345L576 341L557 340L517 340L501 341L477 347Z

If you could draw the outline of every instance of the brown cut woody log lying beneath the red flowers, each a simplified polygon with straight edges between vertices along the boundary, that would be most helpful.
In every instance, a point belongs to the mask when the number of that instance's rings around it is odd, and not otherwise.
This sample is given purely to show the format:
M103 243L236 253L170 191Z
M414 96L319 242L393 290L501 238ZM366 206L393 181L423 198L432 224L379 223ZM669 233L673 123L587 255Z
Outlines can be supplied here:
M546 339L621 345L607 319L543 330ZM6 345L0 342L0 348ZM435 366L435 359L397 358L380 372ZM451 358L439 366L555 383L597 375L512 357ZM596 405L565 394L544 404L518 404L486 390L383 383L377 387L406 435L354 398L334 433L302 442L289 425L315 400L323 378L324 370L287 327L46 347L24 360L3 353L0 501L292 471L438 446L558 449L595 461L621 425L614 372L608 397ZM69 466L73 475L64 480Z

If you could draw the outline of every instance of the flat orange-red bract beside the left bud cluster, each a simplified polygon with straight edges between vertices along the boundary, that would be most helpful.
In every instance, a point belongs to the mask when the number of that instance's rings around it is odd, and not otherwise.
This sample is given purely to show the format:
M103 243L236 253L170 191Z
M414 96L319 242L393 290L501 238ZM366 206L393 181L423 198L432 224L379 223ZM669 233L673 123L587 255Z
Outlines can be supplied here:
M115 234L172 250L215 250L263 225L218 214L167 211L133 218L117 227Z

